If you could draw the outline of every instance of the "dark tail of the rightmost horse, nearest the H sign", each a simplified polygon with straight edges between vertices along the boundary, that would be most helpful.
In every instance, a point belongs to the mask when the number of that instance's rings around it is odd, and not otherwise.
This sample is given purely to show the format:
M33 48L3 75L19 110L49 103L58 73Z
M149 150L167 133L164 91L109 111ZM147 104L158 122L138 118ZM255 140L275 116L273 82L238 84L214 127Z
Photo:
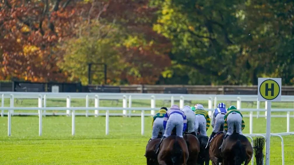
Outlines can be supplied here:
M235 165L241 165L243 162L246 161L246 149L243 144L241 144L240 140L238 139L236 144L232 147L232 154L234 154L234 163Z

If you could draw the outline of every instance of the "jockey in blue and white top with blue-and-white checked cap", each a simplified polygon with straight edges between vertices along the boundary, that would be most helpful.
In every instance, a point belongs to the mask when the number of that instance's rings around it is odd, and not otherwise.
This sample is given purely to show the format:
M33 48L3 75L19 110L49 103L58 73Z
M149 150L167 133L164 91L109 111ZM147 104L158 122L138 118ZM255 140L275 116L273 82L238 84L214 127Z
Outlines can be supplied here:
M211 126L213 130L211 135L208 139L206 147L208 147L209 142L211 141L212 137L218 132L220 126L224 124L224 116L227 113L227 109L225 109L225 103L219 103L218 107L212 112L212 122Z

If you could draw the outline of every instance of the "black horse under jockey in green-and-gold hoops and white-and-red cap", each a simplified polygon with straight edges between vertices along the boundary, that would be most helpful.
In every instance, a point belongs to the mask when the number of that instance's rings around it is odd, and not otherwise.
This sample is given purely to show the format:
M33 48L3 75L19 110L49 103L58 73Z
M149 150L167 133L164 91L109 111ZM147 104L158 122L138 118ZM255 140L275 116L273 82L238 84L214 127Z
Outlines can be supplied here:
M197 138L200 144L200 152L198 154L197 163L200 165L204 165L205 162L205 165L209 165L209 151L208 148L205 148L208 141L208 137L198 134Z

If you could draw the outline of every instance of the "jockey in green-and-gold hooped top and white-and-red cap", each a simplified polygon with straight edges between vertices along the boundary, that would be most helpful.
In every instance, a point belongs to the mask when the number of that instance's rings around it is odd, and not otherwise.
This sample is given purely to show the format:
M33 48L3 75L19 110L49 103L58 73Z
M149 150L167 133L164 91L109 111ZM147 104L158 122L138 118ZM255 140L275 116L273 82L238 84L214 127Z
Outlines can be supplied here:
M194 113L195 113L195 132L197 132L198 128L200 128L200 134L203 136L207 136L206 131L208 130L210 126L210 118L208 116L208 112L204 110L203 105L196 104Z

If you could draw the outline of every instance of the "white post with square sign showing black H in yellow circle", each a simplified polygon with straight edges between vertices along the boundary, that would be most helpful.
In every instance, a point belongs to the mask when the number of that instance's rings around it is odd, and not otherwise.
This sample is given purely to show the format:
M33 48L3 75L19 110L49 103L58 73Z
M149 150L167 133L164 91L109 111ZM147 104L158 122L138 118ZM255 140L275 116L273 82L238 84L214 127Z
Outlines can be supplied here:
M281 78L258 78L258 101L267 101L265 164L270 164L270 109L272 101L281 101Z

